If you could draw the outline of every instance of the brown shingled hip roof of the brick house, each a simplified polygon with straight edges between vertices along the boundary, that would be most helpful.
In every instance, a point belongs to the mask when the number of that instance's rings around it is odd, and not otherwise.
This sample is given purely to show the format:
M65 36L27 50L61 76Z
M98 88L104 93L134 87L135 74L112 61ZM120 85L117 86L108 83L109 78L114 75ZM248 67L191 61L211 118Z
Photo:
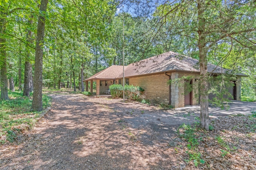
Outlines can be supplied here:
M214 64L208 64L208 72L212 73L231 73L230 70L216 66ZM185 71L185 72L197 72L200 73L199 61L191 57L180 55L172 51L144 59L128 66L125 66L124 76L132 77L144 74L154 74L160 72L169 71ZM110 66L92 77L86 79L115 79L123 77L123 66ZM236 75L246 76L245 74L238 73Z

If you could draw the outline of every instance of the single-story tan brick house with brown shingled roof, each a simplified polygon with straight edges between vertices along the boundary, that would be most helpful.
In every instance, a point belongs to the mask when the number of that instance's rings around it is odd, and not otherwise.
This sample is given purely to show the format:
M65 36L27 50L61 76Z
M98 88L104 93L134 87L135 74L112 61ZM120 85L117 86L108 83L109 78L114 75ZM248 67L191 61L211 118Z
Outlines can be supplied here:
M212 74L228 73L228 71L225 68L208 64L208 72L212 72ZM142 87L146 92L146 98L154 103L170 104L175 108L198 104L199 96L196 94L198 94L199 81L197 78L190 80L193 90L189 94L185 94L186 87L174 83L168 85L168 80L199 75L198 60L172 51L124 66L126 84ZM243 76L246 75L236 74L234 86L229 89L234 100L241 100L241 77ZM111 84L122 84L123 66L112 65L84 81L86 82L86 91L88 91L88 81L91 84L95 81L96 95L100 95L100 93L106 92ZM92 86L90 91L92 93ZM209 98L212 96L209 95Z

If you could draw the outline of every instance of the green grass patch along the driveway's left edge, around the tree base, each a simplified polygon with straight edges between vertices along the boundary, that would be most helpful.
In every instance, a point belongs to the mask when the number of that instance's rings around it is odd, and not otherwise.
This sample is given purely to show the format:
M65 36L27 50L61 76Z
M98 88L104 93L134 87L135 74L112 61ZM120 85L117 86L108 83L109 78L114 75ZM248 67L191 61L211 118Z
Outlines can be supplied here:
M31 129L41 112L30 111L32 98L23 92L9 92L10 100L0 100L0 144L14 142L19 133ZM33 94L31 93L30 96ZM50 106L50 97L43 94L43 109Z

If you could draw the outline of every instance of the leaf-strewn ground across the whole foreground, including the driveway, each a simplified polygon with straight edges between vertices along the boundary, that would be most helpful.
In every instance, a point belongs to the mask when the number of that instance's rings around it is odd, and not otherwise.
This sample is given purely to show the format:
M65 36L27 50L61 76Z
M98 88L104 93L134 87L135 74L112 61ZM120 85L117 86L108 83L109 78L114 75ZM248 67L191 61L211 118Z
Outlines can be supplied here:
M180 127L198 117L193 109L69 92L48 95L51 111L16 142L0 146L1 169L256 169L256 113L213 113L213 130L206 132Z

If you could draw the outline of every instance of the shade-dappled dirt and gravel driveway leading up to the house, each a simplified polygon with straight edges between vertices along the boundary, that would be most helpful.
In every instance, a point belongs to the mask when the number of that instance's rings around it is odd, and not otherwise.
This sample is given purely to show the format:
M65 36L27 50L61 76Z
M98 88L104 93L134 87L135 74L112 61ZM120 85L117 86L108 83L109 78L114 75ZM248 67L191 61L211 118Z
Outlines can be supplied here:
M120 99L51 94L51 112L19 140L0 148L0 167L9 169L180 169L184 159L168 142L191 123L199 107L163 111ZM250 113L256 104L230 113ZM235 105L234 105L235 106ZM250 108L251 107L251 108ZM238 108L241 108L240 106ZM232 106L231 106L232 109ZM189 115L189 116L188 116ZM179 139L177 139L179 140Z

